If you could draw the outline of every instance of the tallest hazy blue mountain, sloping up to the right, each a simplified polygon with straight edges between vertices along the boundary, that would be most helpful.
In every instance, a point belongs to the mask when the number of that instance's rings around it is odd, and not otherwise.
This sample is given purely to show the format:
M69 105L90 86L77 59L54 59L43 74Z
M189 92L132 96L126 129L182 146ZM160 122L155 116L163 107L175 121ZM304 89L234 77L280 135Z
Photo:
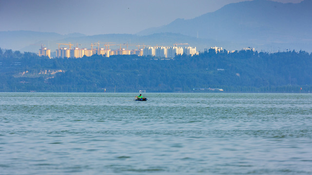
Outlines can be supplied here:
M137 35L170 32L261 48L309 49L312 46L311 9L312 0L300 3L243 1L197 18L176 19L168 25L150 28Z

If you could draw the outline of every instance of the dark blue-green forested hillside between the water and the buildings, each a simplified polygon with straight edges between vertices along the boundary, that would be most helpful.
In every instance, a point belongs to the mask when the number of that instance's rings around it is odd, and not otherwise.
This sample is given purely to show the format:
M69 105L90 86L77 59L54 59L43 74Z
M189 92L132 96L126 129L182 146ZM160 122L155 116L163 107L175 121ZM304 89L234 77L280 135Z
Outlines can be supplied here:
M137 55L49 59L0 49L0 91L103 92L104 88L107 92L205 92L194 88L309 92L312 54L205 50L174 59Z

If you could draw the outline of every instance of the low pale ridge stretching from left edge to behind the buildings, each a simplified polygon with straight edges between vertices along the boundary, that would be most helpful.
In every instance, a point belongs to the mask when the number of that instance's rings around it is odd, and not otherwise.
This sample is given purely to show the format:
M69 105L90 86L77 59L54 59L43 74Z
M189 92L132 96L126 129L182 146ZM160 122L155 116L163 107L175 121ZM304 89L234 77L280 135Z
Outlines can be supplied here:
M212 39L202 39L193 36L174 34L174 33L158 33L152 35L130 35L130 34L106 34L106 35L92 35L87 36L83 34L69 34L60 35L57 33L42 33L33 31L8 31L0 32L0 48L12 49L13 51L34 52L38 53L41 44L44 44L51 52L58 49L57 43L74 44L74 47L90 48L91 43L110 42L114 44L111 49L117 49L119 44L129 49L136 49L137 45L151 45L151 46L172 46L176 43L188 43L190 46L197 47L197 50L204 51L217 44L220 44ZM185 46L185 45L184 45ZM61 47L66 47L61 45ZM104 47L103 44L100 47ZM142 47L141 47L142 48Z

